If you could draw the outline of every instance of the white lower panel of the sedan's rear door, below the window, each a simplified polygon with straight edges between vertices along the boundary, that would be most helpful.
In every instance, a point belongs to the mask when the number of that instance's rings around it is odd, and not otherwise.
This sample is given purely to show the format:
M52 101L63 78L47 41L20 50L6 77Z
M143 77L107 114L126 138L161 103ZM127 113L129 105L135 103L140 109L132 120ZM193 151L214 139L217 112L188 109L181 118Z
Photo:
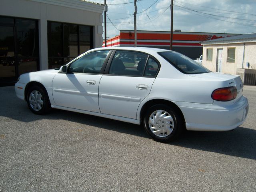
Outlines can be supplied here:
M103 75L99 87L100 111L137 119L138 106L150 93L154 80L150 77ZM140 86L146 90L139 89Z

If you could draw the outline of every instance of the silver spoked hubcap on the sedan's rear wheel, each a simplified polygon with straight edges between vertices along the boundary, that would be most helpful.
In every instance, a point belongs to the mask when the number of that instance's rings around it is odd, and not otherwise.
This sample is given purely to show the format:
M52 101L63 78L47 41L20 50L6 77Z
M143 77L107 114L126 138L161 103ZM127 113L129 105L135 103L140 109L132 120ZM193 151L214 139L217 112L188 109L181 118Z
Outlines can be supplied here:
M156 110L150 115L148 125L153 134L158 137L166 137L173 131L174 120L168 112Z

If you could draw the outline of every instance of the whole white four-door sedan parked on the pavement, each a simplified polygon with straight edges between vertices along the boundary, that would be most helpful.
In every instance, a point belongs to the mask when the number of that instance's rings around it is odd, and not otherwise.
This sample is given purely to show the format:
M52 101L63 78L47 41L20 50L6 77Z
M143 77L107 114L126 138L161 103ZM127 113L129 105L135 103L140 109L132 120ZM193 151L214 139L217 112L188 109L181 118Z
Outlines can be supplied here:
M184 128L232 130L249 108L240 76L155 48L92 49L60 69L22 74L15 91L35 114L57 108L143 124L161 142Z

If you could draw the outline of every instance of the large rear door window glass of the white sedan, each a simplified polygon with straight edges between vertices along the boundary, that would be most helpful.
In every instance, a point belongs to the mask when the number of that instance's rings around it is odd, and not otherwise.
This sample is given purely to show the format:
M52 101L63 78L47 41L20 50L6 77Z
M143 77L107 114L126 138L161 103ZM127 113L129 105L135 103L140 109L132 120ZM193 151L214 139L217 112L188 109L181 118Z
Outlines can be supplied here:
M132 51L116 51L109 74L142 76L148 55Z

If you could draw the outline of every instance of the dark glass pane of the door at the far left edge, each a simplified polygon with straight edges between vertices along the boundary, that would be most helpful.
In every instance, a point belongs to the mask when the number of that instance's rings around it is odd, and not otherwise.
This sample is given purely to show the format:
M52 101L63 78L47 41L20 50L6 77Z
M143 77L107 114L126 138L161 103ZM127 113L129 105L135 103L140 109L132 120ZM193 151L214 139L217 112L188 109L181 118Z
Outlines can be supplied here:
M15 78L14 27L0 26L0 79Z

